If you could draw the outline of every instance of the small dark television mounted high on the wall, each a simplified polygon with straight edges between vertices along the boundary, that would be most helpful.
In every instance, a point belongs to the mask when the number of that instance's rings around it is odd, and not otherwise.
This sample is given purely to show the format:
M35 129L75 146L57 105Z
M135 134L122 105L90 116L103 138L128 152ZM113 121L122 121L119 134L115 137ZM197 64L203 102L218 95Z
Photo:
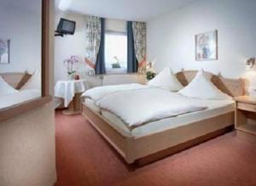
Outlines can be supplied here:
M76 22L73 20L66 20L61 18L57 32L62 33L62 34L71 34L73 35L75 32L76 28Z

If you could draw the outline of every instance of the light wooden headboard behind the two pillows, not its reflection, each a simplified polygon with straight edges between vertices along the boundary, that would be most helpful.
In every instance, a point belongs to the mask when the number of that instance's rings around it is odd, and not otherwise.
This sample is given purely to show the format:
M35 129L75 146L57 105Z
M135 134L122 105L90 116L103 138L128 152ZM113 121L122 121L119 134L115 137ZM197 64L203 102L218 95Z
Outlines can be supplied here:
M183 71L176 73L177 79L184 86L188 85L193 78L195 78L198 71ZM224 93L235 97L245 95L245 81L242 78L232 79L232 78L223 78L221 75L215 75L213 73L205 72L208 78L211 78L212 83L218 87L219 90L222 90Z

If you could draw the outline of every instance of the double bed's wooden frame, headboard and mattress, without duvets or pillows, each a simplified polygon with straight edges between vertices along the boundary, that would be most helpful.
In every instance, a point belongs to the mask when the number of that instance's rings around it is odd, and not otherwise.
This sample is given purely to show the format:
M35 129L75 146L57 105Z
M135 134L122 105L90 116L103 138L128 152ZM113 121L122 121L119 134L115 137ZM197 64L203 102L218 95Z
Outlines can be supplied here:
M195 71L177 73L177 79L187 85ZM219 90L230 96L244 94L242 79L228 79L207 73ZM108 110L98 108L90 98L83 103L83 114L128 164L139 166L177 153L218 137L234 125L235 103L232 100L209 101L192 99L190 102L206 105L207 109L184 113L177 117L156 119L137 127L127 127L123 120Z

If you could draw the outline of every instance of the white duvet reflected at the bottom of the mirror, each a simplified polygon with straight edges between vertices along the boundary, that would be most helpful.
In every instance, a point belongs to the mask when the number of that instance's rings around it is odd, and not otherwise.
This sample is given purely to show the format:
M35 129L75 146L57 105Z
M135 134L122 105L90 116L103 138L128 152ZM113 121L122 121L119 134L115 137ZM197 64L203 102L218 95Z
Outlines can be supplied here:
M12 94L0 96L0 109L27 102L41 96L41 90L20 90Z

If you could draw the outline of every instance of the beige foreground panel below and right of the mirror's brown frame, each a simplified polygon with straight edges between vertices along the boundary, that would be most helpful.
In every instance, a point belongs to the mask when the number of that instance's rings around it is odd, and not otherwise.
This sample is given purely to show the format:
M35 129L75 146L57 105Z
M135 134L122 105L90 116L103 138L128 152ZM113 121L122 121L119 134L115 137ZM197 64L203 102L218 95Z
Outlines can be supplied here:
M54 1L50 1L54 32ZM53 95L54 38L50 35L50 90ZM55 113L52 103L0 123L0 185L52 186L55 172Z

